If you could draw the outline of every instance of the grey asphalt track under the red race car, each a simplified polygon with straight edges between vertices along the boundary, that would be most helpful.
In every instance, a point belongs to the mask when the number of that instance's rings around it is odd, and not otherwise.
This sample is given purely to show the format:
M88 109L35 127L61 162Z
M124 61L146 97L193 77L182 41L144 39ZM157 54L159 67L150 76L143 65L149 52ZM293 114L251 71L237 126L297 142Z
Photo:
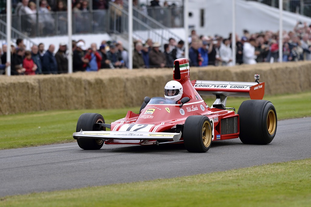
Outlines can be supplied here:
M268 145L239 139L212 142L207 153L183 144L104 145L87 151L54 144L0 151L0 197L225 171L311 158L311 117L278 122Z

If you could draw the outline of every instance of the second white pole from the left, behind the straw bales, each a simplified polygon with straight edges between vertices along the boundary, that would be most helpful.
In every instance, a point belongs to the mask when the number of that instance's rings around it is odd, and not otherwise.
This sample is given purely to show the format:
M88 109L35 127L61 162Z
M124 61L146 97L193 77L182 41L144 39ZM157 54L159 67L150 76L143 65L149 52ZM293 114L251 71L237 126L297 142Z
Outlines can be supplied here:
M68 73L72 73L72 1L67 0L67 19L68 19Z

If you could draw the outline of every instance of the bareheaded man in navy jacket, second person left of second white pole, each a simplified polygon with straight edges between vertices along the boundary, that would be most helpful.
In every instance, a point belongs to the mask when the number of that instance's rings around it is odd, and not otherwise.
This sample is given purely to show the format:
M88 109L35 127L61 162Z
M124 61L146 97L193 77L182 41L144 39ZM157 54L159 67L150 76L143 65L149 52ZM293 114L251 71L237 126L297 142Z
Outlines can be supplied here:
M53 54L55 46L49 45L49 49L44 53L42 59L42 73L43 74L57 74L57 61Z

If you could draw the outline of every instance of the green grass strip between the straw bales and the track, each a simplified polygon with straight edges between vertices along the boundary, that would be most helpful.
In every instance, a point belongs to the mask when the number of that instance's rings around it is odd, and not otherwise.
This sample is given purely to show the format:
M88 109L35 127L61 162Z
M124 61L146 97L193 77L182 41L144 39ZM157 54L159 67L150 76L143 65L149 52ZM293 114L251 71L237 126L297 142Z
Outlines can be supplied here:
M311 92L265 96L276 107L278 120L311 116ZM228 97L227 107L238 110L248 98ZM209 106L215 99L206 99ZM0 116L0 149L39 146L72 142L72 133L82 113L100 113L106 123L123 118L128 110L138 112L140 107L98 110L39 111Z

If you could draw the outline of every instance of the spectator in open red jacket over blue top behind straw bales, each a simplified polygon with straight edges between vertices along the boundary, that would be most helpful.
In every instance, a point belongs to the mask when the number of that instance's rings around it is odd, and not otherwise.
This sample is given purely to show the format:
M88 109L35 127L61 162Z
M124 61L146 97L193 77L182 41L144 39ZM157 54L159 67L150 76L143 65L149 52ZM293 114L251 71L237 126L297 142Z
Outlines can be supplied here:
M98 71L100 69L102 58L97 52L96 43L91 44L91 48L87 49L84 58L89 60L89 63L86 64L86 71Z

